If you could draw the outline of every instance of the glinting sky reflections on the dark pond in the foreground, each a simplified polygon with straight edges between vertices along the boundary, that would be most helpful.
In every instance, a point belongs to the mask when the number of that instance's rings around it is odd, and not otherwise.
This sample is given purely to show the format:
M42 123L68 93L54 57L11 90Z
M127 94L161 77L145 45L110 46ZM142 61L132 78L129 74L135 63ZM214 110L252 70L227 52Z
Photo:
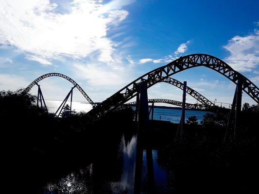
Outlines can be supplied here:
M133 194L134 193L134 176L136 161L137 137L133 135L129 140L122 136L121 145L118 152L118 166L112 167L109 164L109 158L99 161L97 164L91 163L84 169L74 171L63 178L49 182L45 187L43 194ZM111 150L112 151L112 150ZM172 191L167 186L167 172L158 165L157 151L152 150L155 187L159 193L167 194ZM121 160L122 159L122 160ZM120 164L121 162L121 164ZM100 166L100 163L102 166ZM120 169L120 166L122 169ZM113 169L109 169L113 168ZM108 169L108 170L105 170ZM111 175L110 172L114 172ZM121 173L119 179L116 175ZM143 152L142 165L142 193L147 193L147 161L146 151Z

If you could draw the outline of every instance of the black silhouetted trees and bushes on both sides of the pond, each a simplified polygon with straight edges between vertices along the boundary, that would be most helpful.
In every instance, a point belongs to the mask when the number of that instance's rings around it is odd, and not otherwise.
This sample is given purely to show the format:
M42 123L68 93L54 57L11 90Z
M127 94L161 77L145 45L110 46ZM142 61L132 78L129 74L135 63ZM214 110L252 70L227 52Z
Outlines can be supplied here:
M98 188L91 192L112 193L102 183L120 180L119 145L122 135L127 142L137 131L134 112L122 108L88 122L81 119L82 114L69 113L67 107L62 118L54 118L36 106L33 95L21 90L0 92L3 167L10 193L41 193L39 188L46 182L90 163L95 169L91 188ZM233 135L231 123L225 143L226 112L207 113L201 124L195 116L190 117L182 141L174 141L178 124L151 122L157 162L167 170L168 185L174 193L257 190L259 105L244 104L240 118L237 134Z

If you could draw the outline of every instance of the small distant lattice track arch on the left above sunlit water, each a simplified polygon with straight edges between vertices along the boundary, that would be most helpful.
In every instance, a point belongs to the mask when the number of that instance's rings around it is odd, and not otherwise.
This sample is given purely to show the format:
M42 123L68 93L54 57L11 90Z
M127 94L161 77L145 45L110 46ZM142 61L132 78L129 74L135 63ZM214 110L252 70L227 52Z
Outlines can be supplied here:
M61 73L47 73L47 74L44 74L40 77L38 77L35 81L33 81L30 85L27 86L27 88L25 88L23 90L24 93L28 93L32 87L38 83L39 81L45 79L45 78L48 78L48 77L61 77L61 78L64 78L68 81L70 81L78 90L79 92L81 92L81 94L86 98L86 100L93 106L93 107L96 107L96 104L91 100L90 97L88 97L88 95L86 94L86 92L75 82L73 81L71 78L69 78L68 76L64 75L64 74L61 74Z

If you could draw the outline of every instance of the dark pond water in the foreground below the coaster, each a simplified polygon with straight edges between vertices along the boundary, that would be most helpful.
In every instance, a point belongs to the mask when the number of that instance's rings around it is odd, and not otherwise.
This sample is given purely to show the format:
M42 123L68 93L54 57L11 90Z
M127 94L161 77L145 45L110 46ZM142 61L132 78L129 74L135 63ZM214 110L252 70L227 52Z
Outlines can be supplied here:
M128 192L128 194L133 194L134 192L134 176L135 176L135 160L136 160L136 145L137 138L134 135L129 142L125 142L124 136L121 139L121 145L118 152L118 156L122 155L122 172L119 180L113 180L113 178L102 180L102 188L107 193L112 194L123 194L123 191ZM159 190L160 194L167 194L172 191L172 186L167 183L167 172L157 163L157 150L153 150L153 163L154 163L154 173L155 173L155 188ZM105 164L104 164L105 165ZM109 166L107 166L109 167ZM118 169L117 169L118 170ZM117 174L118 172L115 172ZM92 194L94 190L93 182L94 168L93 164L89 164L84 169L79 169L77 171L71 172L63 178L58 178L54 181L50 181L43 188L43 194ZM107 175L103 175L107 177ZM142 185L143 191L146 193L147 187L147 161L146 152L143 152L143 167L142 167ZM109 192L108 192L109 191Z

